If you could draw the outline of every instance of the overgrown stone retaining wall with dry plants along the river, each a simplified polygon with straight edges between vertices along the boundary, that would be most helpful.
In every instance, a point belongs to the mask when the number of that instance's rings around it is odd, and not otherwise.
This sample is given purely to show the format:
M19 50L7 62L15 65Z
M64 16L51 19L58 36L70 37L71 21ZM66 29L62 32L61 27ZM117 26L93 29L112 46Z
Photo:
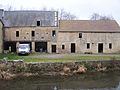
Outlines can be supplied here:
M66 63L24 63L23 61L0 61L0 78L18 76L64 76L87 72L120 70L120 61L81 61Z

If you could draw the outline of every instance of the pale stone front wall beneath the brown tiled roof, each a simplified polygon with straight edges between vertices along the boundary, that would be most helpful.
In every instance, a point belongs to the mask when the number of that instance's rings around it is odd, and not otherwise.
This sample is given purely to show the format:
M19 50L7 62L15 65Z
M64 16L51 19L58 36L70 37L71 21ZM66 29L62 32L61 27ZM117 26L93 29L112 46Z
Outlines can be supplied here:
M103 44L103 53L120 53L120 33L97 33L83 32L82 38L79 38L80 32L58 32L57 50L58 53L71 53L71 43L75 43L75 53L99 53L98 44ZM90 48L87 48L89 43ZM112 48L109 48L109 44ZM65 49L62 49L65 45Z

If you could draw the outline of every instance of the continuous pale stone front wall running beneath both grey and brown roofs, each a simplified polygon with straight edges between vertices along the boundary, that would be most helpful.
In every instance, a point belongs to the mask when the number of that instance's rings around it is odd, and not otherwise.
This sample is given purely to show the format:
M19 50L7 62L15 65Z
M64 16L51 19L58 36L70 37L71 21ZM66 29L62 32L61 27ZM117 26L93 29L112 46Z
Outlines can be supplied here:
M16 37L16 31L19 31L19 37ZM35 31L34 37L32 31ZM52 36L52 31L55 31L55 36ZM33 52L34 42L47 42L49 53L52 53L52 45L56 45L56 53L71 53L71 43L75 44L75 53L99 53L98 44L102 43L102 53L120 53L120 32L83 32L82 38L79 33L59 31L58 27L12 27L5 28L5 41L32 42ZM87 48L88 43L90 48Z

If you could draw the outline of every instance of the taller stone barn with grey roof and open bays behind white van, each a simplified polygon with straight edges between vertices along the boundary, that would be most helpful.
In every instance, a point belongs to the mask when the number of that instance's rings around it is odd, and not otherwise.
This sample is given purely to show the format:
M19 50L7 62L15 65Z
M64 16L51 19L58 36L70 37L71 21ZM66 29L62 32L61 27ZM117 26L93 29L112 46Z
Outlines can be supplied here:
M32 52L48 52L58 28L56 11L4 11L4 50L16 52L21 43L29 43Z

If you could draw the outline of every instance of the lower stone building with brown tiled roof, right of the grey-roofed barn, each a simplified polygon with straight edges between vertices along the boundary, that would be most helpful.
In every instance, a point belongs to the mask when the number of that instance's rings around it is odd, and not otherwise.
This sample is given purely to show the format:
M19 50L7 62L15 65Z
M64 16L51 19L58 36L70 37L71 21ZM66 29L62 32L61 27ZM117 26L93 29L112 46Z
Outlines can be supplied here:
M59 53L120 53L120 27L114 20L60 21Z

